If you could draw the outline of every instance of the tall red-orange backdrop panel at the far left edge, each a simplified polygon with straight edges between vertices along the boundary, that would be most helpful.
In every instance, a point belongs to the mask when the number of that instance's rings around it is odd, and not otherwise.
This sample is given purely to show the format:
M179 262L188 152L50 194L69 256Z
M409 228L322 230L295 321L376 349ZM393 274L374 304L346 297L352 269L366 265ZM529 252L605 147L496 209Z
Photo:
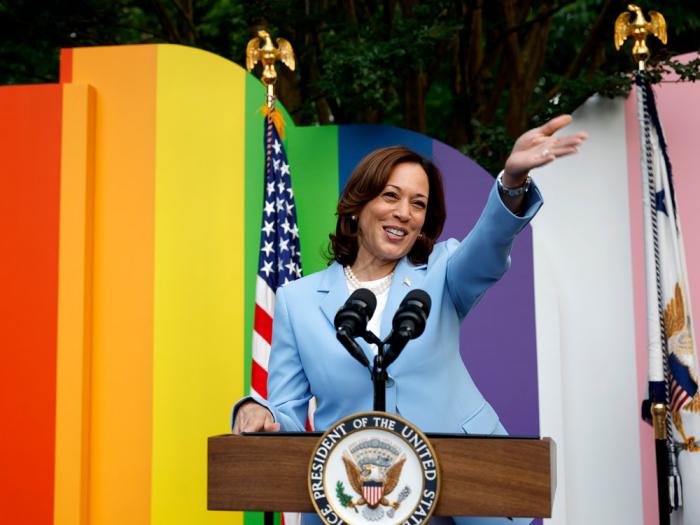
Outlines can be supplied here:
M0 87L0 521L50 524L59 85Z

